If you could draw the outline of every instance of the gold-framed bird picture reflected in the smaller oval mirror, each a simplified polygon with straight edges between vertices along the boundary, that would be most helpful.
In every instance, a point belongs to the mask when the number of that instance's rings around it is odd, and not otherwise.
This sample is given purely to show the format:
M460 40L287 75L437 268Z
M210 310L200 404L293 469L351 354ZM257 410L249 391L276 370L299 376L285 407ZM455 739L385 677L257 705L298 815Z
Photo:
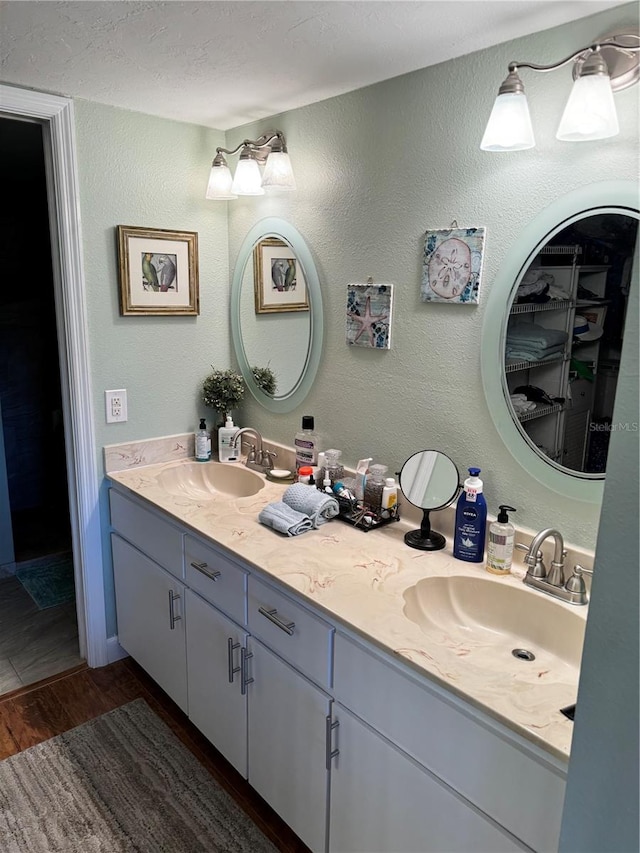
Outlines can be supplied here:
M302 265L288 243L261 240L253 250L256 314L308 311L309 294Z

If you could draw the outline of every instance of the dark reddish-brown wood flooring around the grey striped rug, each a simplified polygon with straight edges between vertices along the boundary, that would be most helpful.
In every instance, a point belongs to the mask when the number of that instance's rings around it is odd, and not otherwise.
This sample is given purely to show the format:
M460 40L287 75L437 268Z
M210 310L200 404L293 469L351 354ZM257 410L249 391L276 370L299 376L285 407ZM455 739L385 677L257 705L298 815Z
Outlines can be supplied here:
M310 853L292 830L211 746L178 706L131 658L101 669L86 665L0 699L0 759L8 758L133 699L145 699L284 853Z

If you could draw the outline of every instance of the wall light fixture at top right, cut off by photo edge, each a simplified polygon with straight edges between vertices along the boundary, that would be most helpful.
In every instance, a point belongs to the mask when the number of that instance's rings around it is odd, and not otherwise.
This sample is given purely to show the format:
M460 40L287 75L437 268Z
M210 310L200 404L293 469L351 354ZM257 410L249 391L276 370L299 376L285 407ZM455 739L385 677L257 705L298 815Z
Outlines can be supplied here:
M625 32L605 36L553 65L510 62L509 74L498 91L480 148L483 151L522 151L533 148L535 138L527 97L518 69L555 71L573 62L574 84L562 114L557 139L583 142L606 139L618 131L613 92L638 82L640 36Z

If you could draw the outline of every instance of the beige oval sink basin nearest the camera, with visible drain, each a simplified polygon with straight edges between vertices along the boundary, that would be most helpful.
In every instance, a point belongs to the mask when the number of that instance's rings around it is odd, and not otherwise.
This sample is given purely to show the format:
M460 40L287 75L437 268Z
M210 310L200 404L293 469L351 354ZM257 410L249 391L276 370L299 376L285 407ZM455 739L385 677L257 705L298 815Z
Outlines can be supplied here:
M577 677L585 619L552 598L499 580L456 575L423 578L405 590L404 599L407 618L479 666L508 665L512 672L532 667L545 675L568 667Z

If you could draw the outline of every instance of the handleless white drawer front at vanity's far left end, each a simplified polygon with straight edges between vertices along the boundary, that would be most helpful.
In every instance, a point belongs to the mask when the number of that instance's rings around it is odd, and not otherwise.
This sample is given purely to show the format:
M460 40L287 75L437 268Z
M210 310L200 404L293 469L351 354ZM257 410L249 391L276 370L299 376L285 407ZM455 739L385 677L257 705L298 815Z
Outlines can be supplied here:
M177 578L184 578L182 533L159 515L110 489L111 526Z

